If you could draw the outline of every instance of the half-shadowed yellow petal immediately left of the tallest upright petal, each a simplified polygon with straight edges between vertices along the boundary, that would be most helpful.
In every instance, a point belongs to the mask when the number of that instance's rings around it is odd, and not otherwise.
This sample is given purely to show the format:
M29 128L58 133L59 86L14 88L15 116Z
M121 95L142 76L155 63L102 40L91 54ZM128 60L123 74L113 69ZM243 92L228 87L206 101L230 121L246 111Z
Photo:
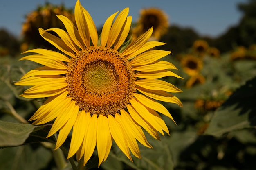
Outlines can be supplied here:
M83 44L83 40L74 26L74 23L70 21L67 17L63 15L57 15L58 19L61 20L61 22L64 24L65 28L67 29L67 33L70 35L71 39L74 41L74 43L81 48L82 50L85 49L85 46Z

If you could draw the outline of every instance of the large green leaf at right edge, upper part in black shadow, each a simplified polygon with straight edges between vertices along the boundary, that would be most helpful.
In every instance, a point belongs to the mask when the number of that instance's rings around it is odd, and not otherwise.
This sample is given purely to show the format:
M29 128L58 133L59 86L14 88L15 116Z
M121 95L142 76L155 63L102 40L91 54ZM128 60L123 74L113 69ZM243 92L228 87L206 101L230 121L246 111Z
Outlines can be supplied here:
M256 128L256 78L236 90L215 112L205 135L221 136L245 128Z

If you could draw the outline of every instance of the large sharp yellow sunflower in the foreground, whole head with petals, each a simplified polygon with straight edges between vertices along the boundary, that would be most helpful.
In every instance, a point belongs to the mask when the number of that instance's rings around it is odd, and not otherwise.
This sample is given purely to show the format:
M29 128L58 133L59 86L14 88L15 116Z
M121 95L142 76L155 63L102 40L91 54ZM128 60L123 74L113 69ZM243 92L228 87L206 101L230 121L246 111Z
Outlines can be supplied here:
M164 135L164 131L167 134L169 131L158 112L173 120L157 100L182 107L180 100L171 94L181 90L158 79L181 78L169 70L177 69L173 64L159 60L170 52L148 50L164 45L147 42L153 28L134 41L126 40L132 22L132 17L127 17L128 11L125 8L119 15L116 12L108 17L98 36L90 14L78 0L75 5L77 28L63 15L57 17L67 32L59 28L39 28L40 35L60 52L33 49L24 53L34 54L21 58L44 65L29 71L16 83L32 86L20 96L48 97L29 120L35 120L35 125L54 120L47 137L59 131L56 149L73 129L67 157L74 154L77 160L83 157L83 165L95 146L99 165L105 161L112 139L131 161L130 151L141 158L137 141L152 148L142 128L160 139L158 132Z

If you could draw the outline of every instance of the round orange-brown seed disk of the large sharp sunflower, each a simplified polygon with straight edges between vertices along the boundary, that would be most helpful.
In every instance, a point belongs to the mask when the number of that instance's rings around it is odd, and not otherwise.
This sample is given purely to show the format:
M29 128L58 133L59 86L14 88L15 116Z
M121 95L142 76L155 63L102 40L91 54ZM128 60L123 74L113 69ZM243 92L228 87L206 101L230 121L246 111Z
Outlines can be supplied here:
M108 115L125 108L135 92L134 71L111 48L91 46L76 54L66 74L69 96L80 110Z

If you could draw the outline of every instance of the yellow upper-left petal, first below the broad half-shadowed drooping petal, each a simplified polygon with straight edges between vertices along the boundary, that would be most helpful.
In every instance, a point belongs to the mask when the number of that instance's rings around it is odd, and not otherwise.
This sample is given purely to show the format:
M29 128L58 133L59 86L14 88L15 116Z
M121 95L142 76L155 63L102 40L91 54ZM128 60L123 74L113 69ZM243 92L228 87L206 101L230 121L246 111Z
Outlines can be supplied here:
M56 52L56 51L52 51L52 50L37 48L37 49L32 49L32 50L25 51L22 54L29 53L29 52L42 54L42 57L50 56L49 59L52 59L52 60L55 60L55 61L70 62L70 59L67 58L65 55L63 55L59 52ZM21 59L23 59L23 58L24 57L22 57ZM19 59L19 60L21 60L21 59Z

